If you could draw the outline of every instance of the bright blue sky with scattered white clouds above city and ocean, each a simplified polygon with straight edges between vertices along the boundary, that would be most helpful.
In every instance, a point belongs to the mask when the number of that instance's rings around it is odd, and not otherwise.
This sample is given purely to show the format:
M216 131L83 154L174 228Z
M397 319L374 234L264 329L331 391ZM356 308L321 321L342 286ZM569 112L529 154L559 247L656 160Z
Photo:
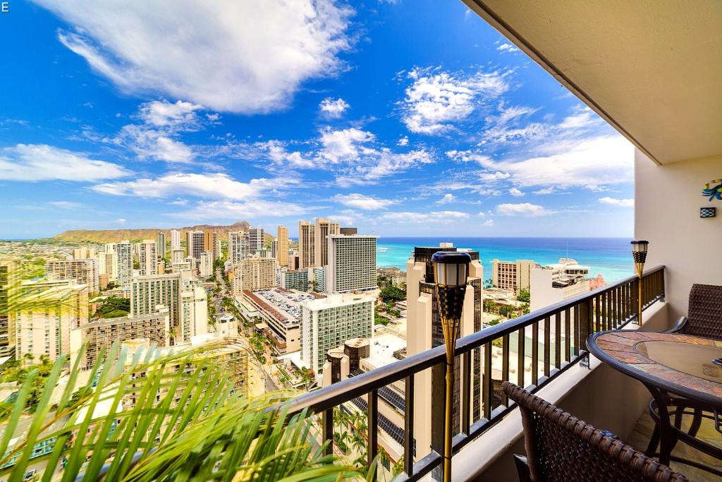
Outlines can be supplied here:
M629 142L461 1L11 1L0 238L630 236Z

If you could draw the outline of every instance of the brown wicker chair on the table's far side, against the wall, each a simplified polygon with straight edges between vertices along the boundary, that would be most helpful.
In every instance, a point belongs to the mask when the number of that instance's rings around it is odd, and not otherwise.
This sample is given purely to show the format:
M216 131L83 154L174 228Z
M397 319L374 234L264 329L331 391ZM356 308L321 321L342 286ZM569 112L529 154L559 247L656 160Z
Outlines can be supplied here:
M669 332L722 340L722 286L692 285L687 317Z

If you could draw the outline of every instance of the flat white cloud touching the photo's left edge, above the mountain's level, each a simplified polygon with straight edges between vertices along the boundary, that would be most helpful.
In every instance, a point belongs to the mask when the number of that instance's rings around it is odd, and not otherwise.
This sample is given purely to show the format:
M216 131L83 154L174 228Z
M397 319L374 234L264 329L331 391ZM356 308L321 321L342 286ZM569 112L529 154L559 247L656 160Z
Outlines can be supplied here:
M4 181L102 181L129 174L121 165L45 144L0 149L0 179Z

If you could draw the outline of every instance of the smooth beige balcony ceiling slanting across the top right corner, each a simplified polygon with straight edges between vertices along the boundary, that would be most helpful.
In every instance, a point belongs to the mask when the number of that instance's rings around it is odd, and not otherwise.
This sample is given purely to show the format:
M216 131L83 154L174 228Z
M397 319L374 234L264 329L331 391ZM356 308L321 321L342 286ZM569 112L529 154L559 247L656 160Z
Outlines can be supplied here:
M722 155L722 1L463 1L658 163Z

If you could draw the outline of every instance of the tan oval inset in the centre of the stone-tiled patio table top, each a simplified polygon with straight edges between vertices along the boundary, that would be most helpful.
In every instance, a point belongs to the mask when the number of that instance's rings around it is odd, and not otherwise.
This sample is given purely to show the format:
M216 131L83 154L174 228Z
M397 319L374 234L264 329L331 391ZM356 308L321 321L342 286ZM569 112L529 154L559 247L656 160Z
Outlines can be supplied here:
M652 361L710 382L722 383L722 348L678 341L648 340L635 348Z

